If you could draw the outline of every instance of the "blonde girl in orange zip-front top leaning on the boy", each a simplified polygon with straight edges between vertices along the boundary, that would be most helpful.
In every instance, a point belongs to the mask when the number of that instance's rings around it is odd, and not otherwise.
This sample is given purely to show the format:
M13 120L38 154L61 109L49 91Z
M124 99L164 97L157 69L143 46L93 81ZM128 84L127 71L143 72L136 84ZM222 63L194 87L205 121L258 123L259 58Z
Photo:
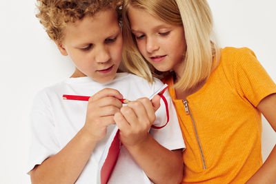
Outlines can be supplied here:
M126 0L123 59L159 76L186 143L183 183L275 183L276 147L262 164L264 114L276 130L276 85L248 48L219 48L205 0Z

